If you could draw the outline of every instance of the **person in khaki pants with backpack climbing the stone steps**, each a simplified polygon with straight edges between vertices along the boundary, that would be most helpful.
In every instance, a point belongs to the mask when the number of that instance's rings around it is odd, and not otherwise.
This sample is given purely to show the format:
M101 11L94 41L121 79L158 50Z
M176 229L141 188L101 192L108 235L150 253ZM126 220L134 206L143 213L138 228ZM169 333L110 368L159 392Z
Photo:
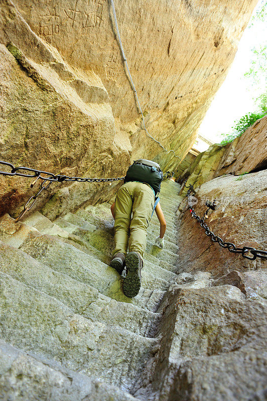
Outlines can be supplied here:
M161 249L164 246L166 220L158 197L162 179L163 172L158 163L147 159L134 161L110 207L114 219L115 249L109 265L119 274L125 267L123 292L130 298L137 296L141 288L147 228L154 211L161 225L160 237L155 244Z

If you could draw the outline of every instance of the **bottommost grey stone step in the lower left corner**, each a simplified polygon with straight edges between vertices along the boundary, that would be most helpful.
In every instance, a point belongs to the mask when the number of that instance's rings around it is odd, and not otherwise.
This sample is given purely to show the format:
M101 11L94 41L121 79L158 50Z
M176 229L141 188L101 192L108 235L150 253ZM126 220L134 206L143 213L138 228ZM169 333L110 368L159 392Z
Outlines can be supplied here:
M92 380L55 361L0 340L0 399L3 401L138 401L116 386Z

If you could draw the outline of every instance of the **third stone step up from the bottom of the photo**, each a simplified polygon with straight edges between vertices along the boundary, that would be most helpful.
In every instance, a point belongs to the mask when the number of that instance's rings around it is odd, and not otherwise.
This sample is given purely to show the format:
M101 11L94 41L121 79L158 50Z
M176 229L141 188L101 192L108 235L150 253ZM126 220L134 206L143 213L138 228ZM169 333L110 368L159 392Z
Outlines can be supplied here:
M27 286L53 296L86 318L117 325L146 337L153 337L161 317L135 305L117 302L92 286L57 273L31 256L0 242L0 271Z

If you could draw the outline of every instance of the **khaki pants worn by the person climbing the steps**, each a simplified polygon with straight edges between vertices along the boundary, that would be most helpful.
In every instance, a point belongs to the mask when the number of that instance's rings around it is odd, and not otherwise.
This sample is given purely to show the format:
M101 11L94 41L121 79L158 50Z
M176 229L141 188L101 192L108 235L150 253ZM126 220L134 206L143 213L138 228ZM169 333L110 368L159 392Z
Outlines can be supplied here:
M142 182L123 184L115 200L115 249L113 255L139 252L143 258L147 228L153 212L155 196L152 188Z

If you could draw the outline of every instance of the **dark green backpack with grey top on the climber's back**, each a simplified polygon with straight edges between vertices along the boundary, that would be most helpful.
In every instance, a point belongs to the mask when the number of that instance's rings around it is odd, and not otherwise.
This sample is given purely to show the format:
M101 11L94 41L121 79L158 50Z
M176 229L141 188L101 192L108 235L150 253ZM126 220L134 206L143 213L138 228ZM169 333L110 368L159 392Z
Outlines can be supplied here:
M126 172L124 182L139 181L146 182L155 191L156 196L161 190L163 172L158 163L151 160L139 159L131 164Z

